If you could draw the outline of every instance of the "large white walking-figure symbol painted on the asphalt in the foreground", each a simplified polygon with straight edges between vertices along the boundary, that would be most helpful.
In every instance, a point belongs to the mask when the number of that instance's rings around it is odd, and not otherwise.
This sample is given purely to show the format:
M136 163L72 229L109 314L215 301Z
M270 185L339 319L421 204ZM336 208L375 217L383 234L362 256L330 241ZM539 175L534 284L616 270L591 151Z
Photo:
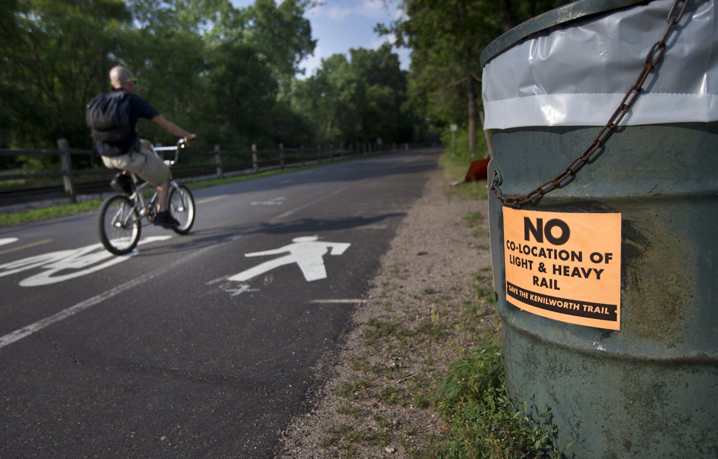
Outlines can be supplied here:
M260 274L267 273L274 268L291 265L292 263L299 265L299 269L302 270L307 282L324 279L327 277L327 270L324 267L324 255L329 252L330 249L330 255L342 255L351 245L347 242L320 242L318 236L295 237L292 242L294 242L294 244L285 245L284 247L279 247L279 249L246 253L244 255L245 257L261 257L264 255L279 255L281 253L288 253L288 255L266 261L254 268L233 275L228 280L239 280L243 282Z

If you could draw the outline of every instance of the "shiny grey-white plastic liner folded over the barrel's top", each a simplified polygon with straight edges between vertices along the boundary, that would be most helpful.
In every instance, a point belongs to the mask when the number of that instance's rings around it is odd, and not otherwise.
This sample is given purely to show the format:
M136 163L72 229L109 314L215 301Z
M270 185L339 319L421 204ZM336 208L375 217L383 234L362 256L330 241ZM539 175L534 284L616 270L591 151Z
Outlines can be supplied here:
M718 120L714 1L689 4L621 126ZM605 126L665 31L671 4L656 0L567 23L494 57L482 74L484 128Z

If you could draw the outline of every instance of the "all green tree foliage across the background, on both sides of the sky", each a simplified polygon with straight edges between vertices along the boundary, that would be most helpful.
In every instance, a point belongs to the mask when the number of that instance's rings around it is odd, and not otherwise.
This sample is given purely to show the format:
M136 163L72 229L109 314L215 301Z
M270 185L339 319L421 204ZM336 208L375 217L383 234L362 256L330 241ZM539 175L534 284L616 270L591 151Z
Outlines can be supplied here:
M458 123L477 155L481 50L564 2L403 0L405 16L376 30L411 47L411 71L386 45L331 56L298 79L316 47L305 17L313 0L239 9L229 0L5 0L0 147L52 148L67 138L90 148L85 103L108 90L119 64L139 78L140 95L199 135L198 148L436 141ZM139 130L174 141L146 120Z

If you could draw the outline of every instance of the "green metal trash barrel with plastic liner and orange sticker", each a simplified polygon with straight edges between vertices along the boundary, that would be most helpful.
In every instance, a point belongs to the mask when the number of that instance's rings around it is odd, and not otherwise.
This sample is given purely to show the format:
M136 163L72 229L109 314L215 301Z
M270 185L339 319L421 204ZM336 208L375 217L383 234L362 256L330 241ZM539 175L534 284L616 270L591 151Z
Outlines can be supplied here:
M482 52L496 196L592 145L671 4L575 1ZM508 391L550 410L567 457L718 458L717 10L688 4L582 169L489 197Z

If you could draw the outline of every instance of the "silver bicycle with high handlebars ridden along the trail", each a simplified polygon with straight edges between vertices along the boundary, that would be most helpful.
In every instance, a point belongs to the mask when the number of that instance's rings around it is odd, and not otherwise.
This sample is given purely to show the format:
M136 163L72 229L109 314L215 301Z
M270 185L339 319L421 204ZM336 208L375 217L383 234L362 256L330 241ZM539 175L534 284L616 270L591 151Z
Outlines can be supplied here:
M180 149L185 146L185 141L180 139L176 146L152 146L152 148L159 154L174 151L173 160L164 160L164 164L172 167L177 163ZM139 183L137 176L131 172L125 173L125 176L129 176L129 180L119 184L117 179L121 174L115 176L112 182L113 188L118 193L105 199L98 218L98 232L102 245L115 255L132 252L142 232L142 218L146 217L150 223L154 223L157 214L157 190L154 191L151 199L146 201L144 191L151 187L151 184L146 181ZM180 235L190 232L192 224L195 223L195 198L192 197L192 192L187 186L179 185L174 180L169 182L168 209L172 217L180 222L180 226L172 230Z

